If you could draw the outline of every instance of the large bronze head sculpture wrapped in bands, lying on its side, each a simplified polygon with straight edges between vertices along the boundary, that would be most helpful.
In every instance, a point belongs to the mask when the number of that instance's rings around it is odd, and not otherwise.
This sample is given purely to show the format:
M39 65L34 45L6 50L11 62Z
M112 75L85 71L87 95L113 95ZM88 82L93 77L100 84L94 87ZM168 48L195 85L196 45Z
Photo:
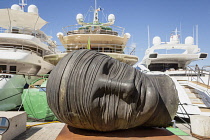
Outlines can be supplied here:
M144 74L91 50L74 51L57 64L48 79L47 99L60 121L97 131L165 127L178 107L170 77Z

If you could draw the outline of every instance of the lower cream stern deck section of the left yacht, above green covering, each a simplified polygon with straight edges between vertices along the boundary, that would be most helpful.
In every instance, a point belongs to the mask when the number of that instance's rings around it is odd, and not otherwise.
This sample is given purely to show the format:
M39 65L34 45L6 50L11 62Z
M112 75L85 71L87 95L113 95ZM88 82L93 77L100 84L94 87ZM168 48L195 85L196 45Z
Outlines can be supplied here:
M44 61L41 56L25 50L0 50L0 64L17 65L18 74L42 75L54 68L53 64Z

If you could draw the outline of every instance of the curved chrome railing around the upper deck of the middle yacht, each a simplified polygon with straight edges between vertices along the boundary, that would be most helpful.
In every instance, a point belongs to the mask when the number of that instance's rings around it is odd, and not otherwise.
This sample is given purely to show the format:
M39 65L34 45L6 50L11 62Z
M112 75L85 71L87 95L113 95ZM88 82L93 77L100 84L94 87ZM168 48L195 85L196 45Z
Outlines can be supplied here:
M79 24L63 27L65 35L71 34L110 34L123 36L125 28L119 26L102 26L102 25L87 25L81 26Z

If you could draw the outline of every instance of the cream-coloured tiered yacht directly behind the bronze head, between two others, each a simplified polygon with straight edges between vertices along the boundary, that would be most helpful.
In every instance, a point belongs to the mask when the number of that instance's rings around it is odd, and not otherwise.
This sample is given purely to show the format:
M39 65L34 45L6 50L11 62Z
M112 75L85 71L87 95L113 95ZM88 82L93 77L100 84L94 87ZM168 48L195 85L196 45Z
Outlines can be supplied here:
M58 33L62 45L66 52L55 55L45 56L45 60L56 64L67 53L79 49L91 49L97 52L107 54L121 62L129 65L134 65L138 62L138 57L133 55L135 48L130 47L129 54L125 54L127 41L131 37L129 33L124 33L125 29L119 26L114 26L115 16L110 14L107 23L99 21L98 13L103 10L97 8L95 1L93 22L84 22L82 14L76 16L76 25L70 25L63 28L64 33Z

